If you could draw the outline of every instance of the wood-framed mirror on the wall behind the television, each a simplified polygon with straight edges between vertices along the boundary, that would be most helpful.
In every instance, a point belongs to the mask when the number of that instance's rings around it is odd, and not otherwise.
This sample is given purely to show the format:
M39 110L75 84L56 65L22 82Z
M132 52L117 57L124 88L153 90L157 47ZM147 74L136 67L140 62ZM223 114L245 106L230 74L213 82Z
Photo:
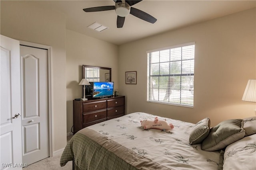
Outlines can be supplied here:
M82 65L83 78L88 82L111 82L111 68Z

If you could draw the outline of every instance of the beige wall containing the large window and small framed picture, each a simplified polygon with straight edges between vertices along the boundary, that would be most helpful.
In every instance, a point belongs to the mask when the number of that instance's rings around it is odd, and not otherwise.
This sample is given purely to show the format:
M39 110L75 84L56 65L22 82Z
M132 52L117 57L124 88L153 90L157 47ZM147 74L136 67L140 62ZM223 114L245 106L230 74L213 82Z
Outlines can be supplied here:
M192 123L210 117L211 125L254 116L255 103L241 99L247 81L256 78L255 22L254 8L121 45L119 90L126 96L127 113L141 111ZM146 102L146 51L192 41L196 42L194 107ZM137 71L136 85L125 84L126 71Z

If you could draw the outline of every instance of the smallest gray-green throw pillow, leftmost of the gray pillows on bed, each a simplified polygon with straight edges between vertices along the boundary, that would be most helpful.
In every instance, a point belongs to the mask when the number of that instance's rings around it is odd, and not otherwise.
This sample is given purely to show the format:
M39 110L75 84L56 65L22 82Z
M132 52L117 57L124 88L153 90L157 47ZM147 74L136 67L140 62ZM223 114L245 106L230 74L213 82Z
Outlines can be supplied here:
M189 144L195 145L201 143L210 132L210 118L204 118L193 127L190 136L189 136Z

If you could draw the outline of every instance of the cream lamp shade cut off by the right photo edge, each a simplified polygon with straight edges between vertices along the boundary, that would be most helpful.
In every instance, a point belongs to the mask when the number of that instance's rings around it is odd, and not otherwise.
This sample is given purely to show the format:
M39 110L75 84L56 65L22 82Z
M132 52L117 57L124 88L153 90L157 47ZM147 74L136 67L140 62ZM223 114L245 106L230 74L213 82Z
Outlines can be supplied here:
M242 100L256 102L256 79L248 80Z

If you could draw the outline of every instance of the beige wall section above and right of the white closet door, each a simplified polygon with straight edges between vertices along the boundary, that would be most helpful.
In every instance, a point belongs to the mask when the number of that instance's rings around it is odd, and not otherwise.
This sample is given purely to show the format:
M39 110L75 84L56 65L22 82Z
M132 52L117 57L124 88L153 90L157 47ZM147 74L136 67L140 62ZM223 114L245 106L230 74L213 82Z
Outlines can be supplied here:
M66 146L65 18L28 1L1 1L0 21L2 35L52 47L53 151L62 149Z

